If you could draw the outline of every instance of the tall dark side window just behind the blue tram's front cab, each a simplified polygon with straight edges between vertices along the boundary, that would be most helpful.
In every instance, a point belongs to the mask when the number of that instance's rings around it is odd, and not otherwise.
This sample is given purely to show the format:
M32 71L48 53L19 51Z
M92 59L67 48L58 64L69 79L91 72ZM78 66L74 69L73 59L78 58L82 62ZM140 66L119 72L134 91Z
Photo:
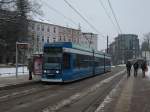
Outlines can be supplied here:
M70 68L70 54L67 53L63 54L63 63L64 63L64 69Z

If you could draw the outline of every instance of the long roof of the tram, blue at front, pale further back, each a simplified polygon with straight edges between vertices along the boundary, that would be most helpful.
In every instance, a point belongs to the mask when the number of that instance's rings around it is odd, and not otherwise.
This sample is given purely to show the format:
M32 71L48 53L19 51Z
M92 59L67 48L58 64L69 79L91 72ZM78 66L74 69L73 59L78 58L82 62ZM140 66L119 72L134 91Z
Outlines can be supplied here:
M87 48L85 46L81 46L72 42L53 42L53 43L46 43L44 44L44 47L64 47L64 48L74 48L78 50L84 50L88 52L93 52L94 49L92 48ZM94 50L96 54L105 54L104 52ZM109 56L108 54L106 54Z

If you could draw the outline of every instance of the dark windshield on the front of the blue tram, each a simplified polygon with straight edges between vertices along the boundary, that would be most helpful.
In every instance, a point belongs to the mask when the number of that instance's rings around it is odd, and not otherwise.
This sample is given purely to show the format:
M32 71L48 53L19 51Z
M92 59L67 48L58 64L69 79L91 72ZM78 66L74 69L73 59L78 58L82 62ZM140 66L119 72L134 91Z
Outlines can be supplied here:
M44 69L61 69L61 48L44 48Z

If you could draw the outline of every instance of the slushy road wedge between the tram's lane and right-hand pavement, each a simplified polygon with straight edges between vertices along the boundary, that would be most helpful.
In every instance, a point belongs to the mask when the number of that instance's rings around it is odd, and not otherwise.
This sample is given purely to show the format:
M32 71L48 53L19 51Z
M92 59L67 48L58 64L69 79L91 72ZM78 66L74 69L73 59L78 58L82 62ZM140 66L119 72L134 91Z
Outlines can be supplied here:
M56 105L48 107L47 109L43 110L43 112L93 112L99 103L103 101L103 99L109 94L113 87L115 87L116 84L120 81L123 74L124 71L119 72L115 76L111 76L110 78L107 78L88 89L74 94L66 100L60 101L60 103ZM92 98L93 94L97 94L98 90L100 90L98 95L94 95L94 98ZM90 100L87 100L89 98ZM86 100L86 106L82 105L83 100ZM79 102L82 103L80 104Z

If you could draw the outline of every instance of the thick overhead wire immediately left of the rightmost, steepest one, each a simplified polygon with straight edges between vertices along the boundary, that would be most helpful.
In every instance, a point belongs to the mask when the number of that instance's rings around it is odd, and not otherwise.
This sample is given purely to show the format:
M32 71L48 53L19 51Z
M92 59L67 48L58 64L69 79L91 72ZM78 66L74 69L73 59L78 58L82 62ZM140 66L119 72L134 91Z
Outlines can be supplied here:
M114 26L114 28L116 29L116 31L119 33L118 27L115 25L113 19L111 18L111 16L110 16L109 13L107 12L107 9L106 9L106 7L104 6L102 0L98 0L98 1L99 1L100 5L102 6L102 8L104 9L105 14L107 15L108 19L110 20L110 22L112 23L112 25Z

